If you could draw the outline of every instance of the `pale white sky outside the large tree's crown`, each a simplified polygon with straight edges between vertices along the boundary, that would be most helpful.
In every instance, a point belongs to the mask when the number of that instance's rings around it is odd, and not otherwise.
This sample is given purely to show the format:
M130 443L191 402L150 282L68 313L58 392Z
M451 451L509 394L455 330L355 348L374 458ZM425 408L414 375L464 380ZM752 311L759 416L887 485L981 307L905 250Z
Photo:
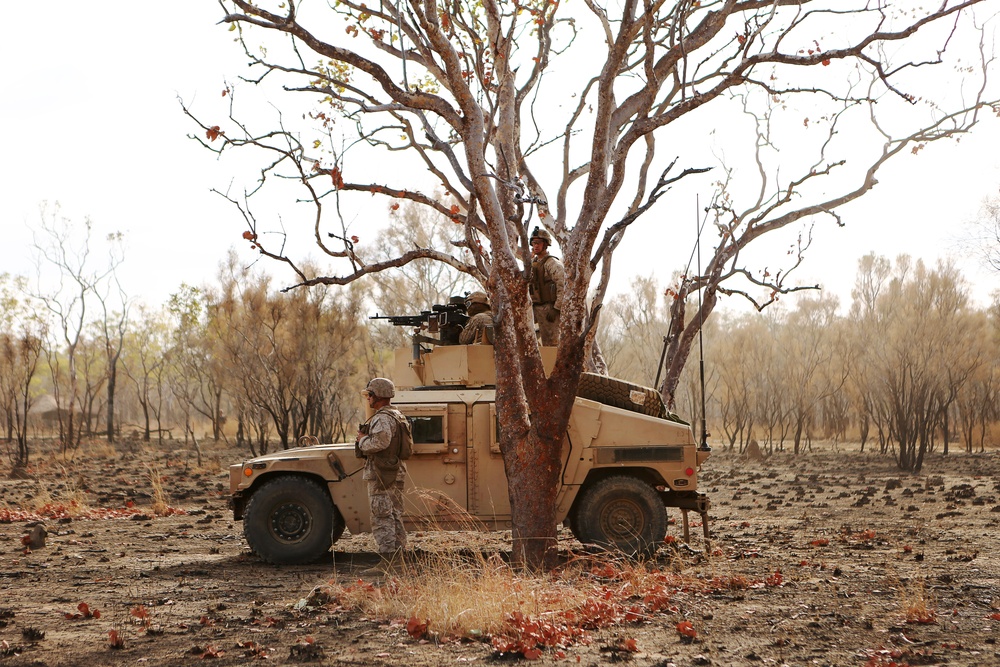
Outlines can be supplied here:
M227 27L216 25L216 3L156 7L134 0L22 3L18 20L0 25L0 229L8 240L0 272L33 273L27 226L37 227L42 201L60 202L73 219L89 216L95 237L124 232L126 290L152 305L182 282L214 282L230 246L252 261L240 239L242 220L210 193L225 189L231 173L187 138L197 128L177 101L219 97L244 58ZM958 246L983 198L1000 192L998 123L985 114L961 143L932 145L885 169L874 192L842 211L845 228L817 225L799 279L847 299L857 259L874 251L929 263L952 256L978 298L1000 288L1000 276ZM699 195L704 203L711 192ZM630 232L615 258L612 292L628 289L636 274L657 273L665 283L686 261L694 196L686 235L658 238L655 227ZM383 211L380 205L378 215ZM279 282L290 280L279 274Z

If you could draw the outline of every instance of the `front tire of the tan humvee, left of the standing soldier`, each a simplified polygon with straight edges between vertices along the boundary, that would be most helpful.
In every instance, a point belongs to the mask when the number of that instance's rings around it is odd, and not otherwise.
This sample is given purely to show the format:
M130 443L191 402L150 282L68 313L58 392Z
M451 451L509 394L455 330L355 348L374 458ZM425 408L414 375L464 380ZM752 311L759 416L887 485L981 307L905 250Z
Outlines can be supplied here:
M343 517L319 484L284 475L265 482L250 496L243 534L262 560L301 565L330 550L338 524L343 533Z

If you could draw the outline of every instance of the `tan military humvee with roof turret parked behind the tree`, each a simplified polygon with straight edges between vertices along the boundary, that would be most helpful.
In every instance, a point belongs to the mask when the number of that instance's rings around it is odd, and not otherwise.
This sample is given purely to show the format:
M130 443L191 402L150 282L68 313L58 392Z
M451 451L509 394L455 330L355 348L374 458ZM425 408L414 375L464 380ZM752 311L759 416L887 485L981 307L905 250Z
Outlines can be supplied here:
M543 348L551 370L555 348ZM396 352L393 405L413 425L406 461L409 529L511 527L497 443L496 376L490 345L414 344ZM701 514L697 492L708 458L691 427L650 388L584 374L563 444L556 518L584 544L649 554L667 531L666 507ZM314 445L249 459L229 469L231 505L250 548L272 563L310 562L344 529L371 530L363 459L354 443Z

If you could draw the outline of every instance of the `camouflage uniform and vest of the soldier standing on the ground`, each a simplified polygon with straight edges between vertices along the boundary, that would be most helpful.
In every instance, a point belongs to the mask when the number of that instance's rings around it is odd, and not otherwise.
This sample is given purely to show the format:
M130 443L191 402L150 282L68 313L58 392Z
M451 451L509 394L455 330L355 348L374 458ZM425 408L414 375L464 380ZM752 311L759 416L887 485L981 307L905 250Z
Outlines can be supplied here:
M384 556L406 548L406 529L403 527L406 464L397 456L401 434L394 414L400 413L392 406L380 408L368 420L368 435L358 441L358 448L365 456L361 477L368 481L372 535L379 553Z

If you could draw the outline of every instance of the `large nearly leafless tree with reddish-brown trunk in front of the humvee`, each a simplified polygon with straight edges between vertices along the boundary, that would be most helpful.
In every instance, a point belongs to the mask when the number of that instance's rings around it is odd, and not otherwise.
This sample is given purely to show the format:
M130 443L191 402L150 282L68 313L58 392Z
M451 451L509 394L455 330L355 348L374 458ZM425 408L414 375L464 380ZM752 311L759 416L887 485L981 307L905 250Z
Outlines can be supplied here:
M727 127L724 117L751 119L749 132L741 123L732 126L750 137L745 143L751 154L756 149L750 160L758 167L758 183L749 187L757 194L749 197L720 179L724 188L712 202L719 247L704 276L678 290L678 309L688 294L704 290L698 317L679 312L672 318L700 326L720 293L739 291L724 285L732 276L775 294L785 289L789 269L764 276L739 259L752 241L811 216L839 222L836 209L869 191L886 161L976 122L988 103L984 78L953 103L930 91L925 97L911 74L918 66L923 73L945 64L957 43L981 44L973 9L982 2L914 9L868 0L377 7L341 0L321 9L288 0L271 11L223 0L223 20L234 26L256 70L252 81L266 88L280 80L314 106L300 114L289 100L282 106L295 113L258 129L244 120L234 101L239 91L230 87L229 119L198 121L199 138L218 152L263 152L260 183L227 196L244 216L254 249L295 273L293 287L344 285L428 258L486 286L497 324L497 409L515 560L541 566L555 553L559 451L611 257L629 228L673 187L714 164L701 146L685 148L692 131L707 136ZM346 19L347 37L344 22L332 16ZM833 36L820 44L820 35ZM988 59L983 52L975 71L984 72ZM892 126L880 120L917 99L927 114ZM815 151L789 167L798 173L783 169L779 178L772 129L801 125L805 108L820 128ZM785 111L795 123L782 122ZM867 127L854 125L866 114ZM303 116L307 122L299 123ZM846 155L857 157L855 141L869 129L881 144L860 156L855 178L842 177L855 164ZM683 156L667 164L657 154L658 137L675 140L670 145ZM348 161L362 153L393 159L396 168L388 174L381 161L367 167L364 157ZM249 196L265 184L280 187L289 179L314 206L316 248L342 262L330 275L306 270L277 221L258 220L249 206ZM445 197L427 194L437 187ZM342 202L358 194L413 201L455 220L452 245L414 246L391 259L364 255L338 215ZM527 293L527 234L536 212L555 235L566 267L560 345L549 377ZM673 332L668 397L694 328Z

